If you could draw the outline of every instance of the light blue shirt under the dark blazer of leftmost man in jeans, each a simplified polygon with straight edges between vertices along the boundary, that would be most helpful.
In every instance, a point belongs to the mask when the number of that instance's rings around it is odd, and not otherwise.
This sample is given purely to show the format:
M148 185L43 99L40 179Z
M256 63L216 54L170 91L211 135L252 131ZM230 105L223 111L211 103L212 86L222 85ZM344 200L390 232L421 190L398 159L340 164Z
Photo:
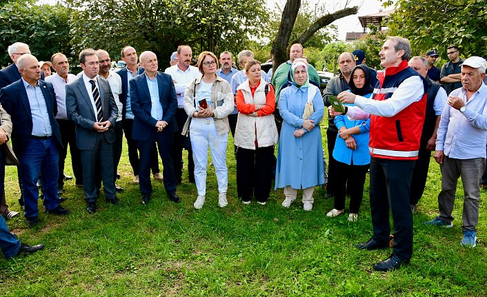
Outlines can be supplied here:
M49 121L48 106L46 99L42 94L39 82L37 85L29 85L22 78L23 86L26 87L27 98L29 99L30 113L32 114L32 135L33 136L51 136L52 128ZM47 88L44 85L44 88Z

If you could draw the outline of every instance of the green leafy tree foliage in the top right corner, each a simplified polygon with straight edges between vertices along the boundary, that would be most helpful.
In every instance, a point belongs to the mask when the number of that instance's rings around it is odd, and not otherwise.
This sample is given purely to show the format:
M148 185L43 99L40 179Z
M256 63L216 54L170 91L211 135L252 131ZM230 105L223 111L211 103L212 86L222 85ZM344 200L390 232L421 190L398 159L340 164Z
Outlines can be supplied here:
M395 8L389 34L408 38L416 54L438 48L446 58L448 45L457 44L465 57L487 56L486 0L398 0Z

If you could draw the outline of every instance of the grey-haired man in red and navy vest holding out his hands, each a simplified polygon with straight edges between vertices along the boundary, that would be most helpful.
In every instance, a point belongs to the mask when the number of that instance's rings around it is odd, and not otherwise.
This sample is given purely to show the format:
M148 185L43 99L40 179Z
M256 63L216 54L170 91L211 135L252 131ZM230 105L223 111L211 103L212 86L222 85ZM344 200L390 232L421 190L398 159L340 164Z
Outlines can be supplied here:
M387 272L408 264L413 255L413 216L409 207L410 184L418 158L426 112L426 81L409 67L408 39L388 37L379 56L379 89L371 99L341 92L338 99L355 103L348 107L350 119L370 116L370 212L374 235L358 249L388 247L389 209L394 220L394 247L389 258L373 265Z

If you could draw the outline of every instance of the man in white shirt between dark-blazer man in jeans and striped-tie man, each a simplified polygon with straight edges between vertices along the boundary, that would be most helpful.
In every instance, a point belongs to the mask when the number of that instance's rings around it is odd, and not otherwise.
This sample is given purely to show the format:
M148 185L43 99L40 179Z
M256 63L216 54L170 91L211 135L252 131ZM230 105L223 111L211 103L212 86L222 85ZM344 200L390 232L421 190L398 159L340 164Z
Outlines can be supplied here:
M63 147L59 147L59 178L57 180L57 194L63 194L64 186L64 161L68 154L68 144L71 153L71 165L76 178L76 185L83 186L83 167L81 166L81 155L76 145L76 134L74 132L74 123L68 120L66 114L66 85L76 79L76 75L68 73L68 58L61 52L53 54L51 57L52 68L56 73L46 77L46 81L52 83L54 92L56 92L57 114L56 121L61 131L61 141Z

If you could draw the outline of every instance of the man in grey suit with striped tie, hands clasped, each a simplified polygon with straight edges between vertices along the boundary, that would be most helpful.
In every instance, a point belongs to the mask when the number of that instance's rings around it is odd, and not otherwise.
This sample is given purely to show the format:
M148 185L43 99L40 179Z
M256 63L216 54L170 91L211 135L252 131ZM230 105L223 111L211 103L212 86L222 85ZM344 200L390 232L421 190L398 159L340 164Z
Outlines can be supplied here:
M66 111L68 119L76 125L76 143L83 165L83 190L89 213L97 210L99 195L95 176L101 173L106 200L118 204L115 196L113 172L113 127L117 121L117 104L110 85L98 75L97 52L82 50L79 63L83 73L66 85Z

